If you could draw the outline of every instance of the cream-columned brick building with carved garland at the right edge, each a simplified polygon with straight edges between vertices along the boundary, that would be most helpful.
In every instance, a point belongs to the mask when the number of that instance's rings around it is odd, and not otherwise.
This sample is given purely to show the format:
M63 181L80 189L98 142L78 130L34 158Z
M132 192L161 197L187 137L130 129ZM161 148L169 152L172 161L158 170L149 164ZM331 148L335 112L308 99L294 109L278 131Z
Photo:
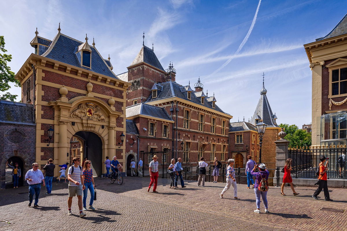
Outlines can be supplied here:
M312 146L347 144L347 14L331 27L304 45L312 71Z

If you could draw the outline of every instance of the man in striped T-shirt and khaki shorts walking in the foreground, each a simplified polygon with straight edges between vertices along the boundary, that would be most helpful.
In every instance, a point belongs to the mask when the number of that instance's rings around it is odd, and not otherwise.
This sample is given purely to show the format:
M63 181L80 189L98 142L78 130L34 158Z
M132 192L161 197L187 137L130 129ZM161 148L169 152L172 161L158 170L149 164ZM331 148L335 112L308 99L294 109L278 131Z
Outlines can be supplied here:
M79 217L84 217L86 214L83 213L83 205L82 205L82 196L83 190L85 189L84 181L82 178L82 167L79 165L81 163L81 159L79 157L75 157L72 162L74 165L70 166L67 179L69 180L69 198L67 200L68 205L68 215L72 215L71 213L71 204L72 198L77 195L78 198L78 208L79 208Z

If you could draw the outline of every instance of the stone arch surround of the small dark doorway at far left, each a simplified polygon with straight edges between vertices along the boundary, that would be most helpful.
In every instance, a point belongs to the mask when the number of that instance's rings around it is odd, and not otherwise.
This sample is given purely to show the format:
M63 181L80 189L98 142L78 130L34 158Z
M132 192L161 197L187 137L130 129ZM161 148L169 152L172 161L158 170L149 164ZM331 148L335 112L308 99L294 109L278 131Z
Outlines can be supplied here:
M23 172L22 172L22 179L24 179L24 176L28 170L32 168L32 163L29 162L29 156L27 154L18 153L17 150L14 150L13 153L8 153L2 156L2 162L0 165L0 171L1 171L1 187L5 188L5 179L6 179L6 162L11 157L19 157L23 161ZM25 181L23 180L23 185L25 185Z

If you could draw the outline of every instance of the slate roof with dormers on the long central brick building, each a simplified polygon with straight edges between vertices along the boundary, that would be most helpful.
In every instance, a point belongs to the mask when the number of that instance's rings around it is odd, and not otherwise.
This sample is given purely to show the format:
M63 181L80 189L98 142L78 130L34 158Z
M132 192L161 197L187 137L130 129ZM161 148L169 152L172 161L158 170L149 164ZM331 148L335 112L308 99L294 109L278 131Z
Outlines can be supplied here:
M158 95L156 98L152 98L152 95L150 95L150 97L147 99L146 102L152 102L152 101L156 101L156 100L162 100L162 99L168 99L171 97L179 97L181 99L187 100L187 101L191 101L193 103L196 104L200 104L202 106L205 106L206 108L212 109L212 110L216 110L222 113L225 113L224 111L222 111L222 109L220 109L217 104L215 104L215 108L212 107L212 102L206 102L204 104L201 104L201 100L200 97L197 97L195 94L201 96L202 92L195 92L192 91L191 94L191 100L189 100L187 98L187 92L182 92L181 88L183 87L182 85L176 83L175 81L167 81L164 83L157 83L157 85L161 85L163 87L162 91L158 92ZM146 103L145 102L145 103ZM228 113L225 113L228 114Z

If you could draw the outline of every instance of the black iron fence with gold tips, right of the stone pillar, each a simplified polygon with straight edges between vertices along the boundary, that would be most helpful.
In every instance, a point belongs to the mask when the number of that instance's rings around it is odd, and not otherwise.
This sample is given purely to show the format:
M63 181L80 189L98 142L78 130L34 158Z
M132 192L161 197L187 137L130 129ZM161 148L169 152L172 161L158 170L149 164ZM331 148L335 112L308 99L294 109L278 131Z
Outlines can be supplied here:
M347 179L346 164L347 148L318 147L318 148L289 148L288 157L293 159L291 176L295 178L317 178L320 156L329 158L328 178Z

